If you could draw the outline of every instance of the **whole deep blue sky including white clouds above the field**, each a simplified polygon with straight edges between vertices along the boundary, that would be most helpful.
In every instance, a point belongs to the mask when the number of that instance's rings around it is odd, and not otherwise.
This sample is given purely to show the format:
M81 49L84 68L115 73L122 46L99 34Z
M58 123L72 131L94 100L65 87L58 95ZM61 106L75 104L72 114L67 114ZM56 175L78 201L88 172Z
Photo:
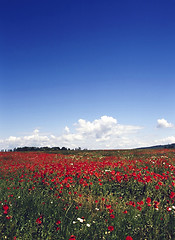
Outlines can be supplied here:
M0 149L175 142L175 1L2 1Z

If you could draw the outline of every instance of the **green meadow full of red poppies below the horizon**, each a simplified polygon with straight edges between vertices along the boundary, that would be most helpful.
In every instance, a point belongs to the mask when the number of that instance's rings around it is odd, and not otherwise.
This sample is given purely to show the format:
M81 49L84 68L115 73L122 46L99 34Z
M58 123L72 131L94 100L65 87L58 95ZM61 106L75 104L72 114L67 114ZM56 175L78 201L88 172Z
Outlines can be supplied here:
M1 152L0 239L175 239L175 149Z

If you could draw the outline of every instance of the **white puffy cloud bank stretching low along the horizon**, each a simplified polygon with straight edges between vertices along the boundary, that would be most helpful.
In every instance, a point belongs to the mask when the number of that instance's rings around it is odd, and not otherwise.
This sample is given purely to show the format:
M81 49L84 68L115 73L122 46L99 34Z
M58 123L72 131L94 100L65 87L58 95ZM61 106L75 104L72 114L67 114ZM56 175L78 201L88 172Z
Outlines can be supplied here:
M157 120L157 128L173 128L172 123L165 119ZM64 128L63 134L40 133L35 129L31 134L25 136L10 136L0 139L0 149L13 149L15 147L67 147L82 149L126 149L146 147L159 144L175 142L175 136L161 135L154 139L153 133L145 136L143 127L135 125L124 125L118 123L117 119L110 116L102 116L94 121L79 119L73 124L73 131L68 126ZM160 131L162 134L162 131ZM152 134L152 135L151 135Z

